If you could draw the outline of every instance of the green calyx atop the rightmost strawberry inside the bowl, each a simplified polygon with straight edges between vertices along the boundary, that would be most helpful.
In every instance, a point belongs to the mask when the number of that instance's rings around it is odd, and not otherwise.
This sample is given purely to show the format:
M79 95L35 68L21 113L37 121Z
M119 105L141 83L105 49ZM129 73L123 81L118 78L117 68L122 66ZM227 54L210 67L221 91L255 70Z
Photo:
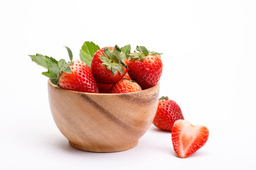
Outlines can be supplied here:
M127 54L127 56L129 56L132 60L139 59L139 61L141 61L141 60L144 60L147 55L158 55L159 57L161 57L161 54L163 54L163 53L154 52L154 51L151 52L147 50L146 47L138 46L138 45L136 47L136 50L137 52L134 51L134 53Z

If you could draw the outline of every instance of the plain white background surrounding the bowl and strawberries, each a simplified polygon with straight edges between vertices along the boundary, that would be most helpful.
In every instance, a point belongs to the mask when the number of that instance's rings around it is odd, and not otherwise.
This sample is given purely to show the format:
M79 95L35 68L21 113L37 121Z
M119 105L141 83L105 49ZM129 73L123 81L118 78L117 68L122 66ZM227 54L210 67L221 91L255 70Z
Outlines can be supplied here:
M254 169L255 1L1 1L0 169ZM210 137L186 159L154 125L125 152L73 149L28 55L79 59L84 41L164 52L161 96Z

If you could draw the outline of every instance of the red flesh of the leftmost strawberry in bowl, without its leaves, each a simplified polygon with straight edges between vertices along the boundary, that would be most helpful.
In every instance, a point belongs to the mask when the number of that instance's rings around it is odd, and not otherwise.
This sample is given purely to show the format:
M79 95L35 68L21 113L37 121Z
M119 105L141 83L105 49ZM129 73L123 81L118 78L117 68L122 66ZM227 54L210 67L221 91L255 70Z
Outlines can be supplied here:
M74 61L70 64L71 74L61 72L58 83L61 88L87 93L99 93L92 71L82 61Z

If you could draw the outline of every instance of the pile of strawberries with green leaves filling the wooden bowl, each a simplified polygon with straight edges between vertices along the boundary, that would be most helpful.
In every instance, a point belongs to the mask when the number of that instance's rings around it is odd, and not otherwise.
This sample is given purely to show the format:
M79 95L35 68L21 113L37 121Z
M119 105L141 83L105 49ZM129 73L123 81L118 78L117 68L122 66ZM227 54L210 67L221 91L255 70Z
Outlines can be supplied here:
M33 62L48 69L43 75L60 88L87 93L129 93L155 86L162 73L160 54L137 46L121 49L102 47L85 42L80 50L80 59L73 61L70 48L66 47L70 62L57 61L45 55L30 55Z

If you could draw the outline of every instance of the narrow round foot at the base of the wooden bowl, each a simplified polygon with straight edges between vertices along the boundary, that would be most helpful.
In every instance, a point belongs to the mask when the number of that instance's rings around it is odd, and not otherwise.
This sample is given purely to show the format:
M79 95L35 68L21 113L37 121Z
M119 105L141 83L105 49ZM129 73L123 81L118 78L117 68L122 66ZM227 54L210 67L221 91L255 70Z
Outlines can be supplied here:
M122 147L88 147L86 145L80 145L76 144L74 142L68 141L71 147L74 147L75 149L80 149L82 151L87 151L87 152L102 152L102 153L107 153L107 152L121 152L125 151L128 149L132 149L138 144L138 141L130 144L130 145L124 145Z

